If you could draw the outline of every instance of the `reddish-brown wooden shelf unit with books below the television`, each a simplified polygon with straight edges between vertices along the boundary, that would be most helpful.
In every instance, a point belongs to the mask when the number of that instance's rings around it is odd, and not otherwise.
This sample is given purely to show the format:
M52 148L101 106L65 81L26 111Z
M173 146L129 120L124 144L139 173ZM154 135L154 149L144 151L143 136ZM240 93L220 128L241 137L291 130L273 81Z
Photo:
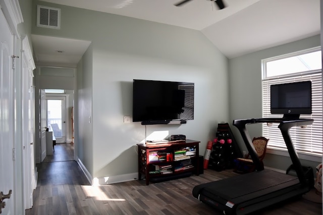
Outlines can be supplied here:
M169 141L138 145L138 179L170 180L181 174L199 174L199 141Z

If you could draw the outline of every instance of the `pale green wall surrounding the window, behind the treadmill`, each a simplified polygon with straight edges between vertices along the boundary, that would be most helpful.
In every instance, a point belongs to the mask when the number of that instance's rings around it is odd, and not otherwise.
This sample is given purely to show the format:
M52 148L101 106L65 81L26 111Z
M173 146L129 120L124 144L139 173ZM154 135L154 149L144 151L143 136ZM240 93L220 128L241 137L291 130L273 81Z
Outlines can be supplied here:
M230 82L230 123L235 119L261 118L261 60L284 55L294 51L320 46L320 36L312 36L299 41L256 51L229 61ZM232 126L233 127L233 126ZM261 124L247 126L250 137L261 136ZM238 129L232 128L235 138L245 150ZM305 166L316 167L316 162L301 160ZM266 154L265 166L286 170L291 164L290 157Z

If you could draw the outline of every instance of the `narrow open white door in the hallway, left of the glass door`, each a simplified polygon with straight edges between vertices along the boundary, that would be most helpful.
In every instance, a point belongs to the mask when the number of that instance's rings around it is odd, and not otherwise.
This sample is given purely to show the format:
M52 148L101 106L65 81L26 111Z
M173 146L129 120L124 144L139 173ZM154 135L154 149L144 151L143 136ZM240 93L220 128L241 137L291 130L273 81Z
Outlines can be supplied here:
M40 162L42 162L46 157L46 93L45 90L40 90Z

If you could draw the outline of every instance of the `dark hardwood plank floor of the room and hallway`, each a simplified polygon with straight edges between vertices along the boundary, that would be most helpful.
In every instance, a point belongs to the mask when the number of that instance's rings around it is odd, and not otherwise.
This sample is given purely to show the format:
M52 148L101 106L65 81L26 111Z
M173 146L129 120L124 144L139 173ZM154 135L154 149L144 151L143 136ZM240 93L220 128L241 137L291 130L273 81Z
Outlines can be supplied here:
M57 144L55 154L38 165L33 207L26 214L221 214L192 196L195 185L236 175L232 170L204 170L200 176L152 183L144 180L90 186L78 164L59 154L73 145ZM66 153L69 154L69 153ZM60 156L60 158L57 158ZM66 157L66 161L62 160ZM73 159L73 156L72 156ZM243 185L242 185L243 186ZM315 190L300 199L256 214L322 214L322 198Z

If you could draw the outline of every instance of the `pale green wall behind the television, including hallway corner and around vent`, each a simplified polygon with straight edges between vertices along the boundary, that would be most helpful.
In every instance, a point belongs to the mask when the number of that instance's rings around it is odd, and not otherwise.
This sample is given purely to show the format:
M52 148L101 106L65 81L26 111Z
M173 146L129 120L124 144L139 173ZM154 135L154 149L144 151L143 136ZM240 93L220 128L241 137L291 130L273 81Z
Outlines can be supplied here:
M37 4L61 9L61 30L36 27ZM218 123L228 122L228 59L199 31L33 1L32 33L92 41L92 68L90 53L78 65L76 145L93 177L137 172L136 144L145 127L123 123L132 116L133 79L195 83L195 119L147 126L147 135L185 134L201 141L203 155Z

